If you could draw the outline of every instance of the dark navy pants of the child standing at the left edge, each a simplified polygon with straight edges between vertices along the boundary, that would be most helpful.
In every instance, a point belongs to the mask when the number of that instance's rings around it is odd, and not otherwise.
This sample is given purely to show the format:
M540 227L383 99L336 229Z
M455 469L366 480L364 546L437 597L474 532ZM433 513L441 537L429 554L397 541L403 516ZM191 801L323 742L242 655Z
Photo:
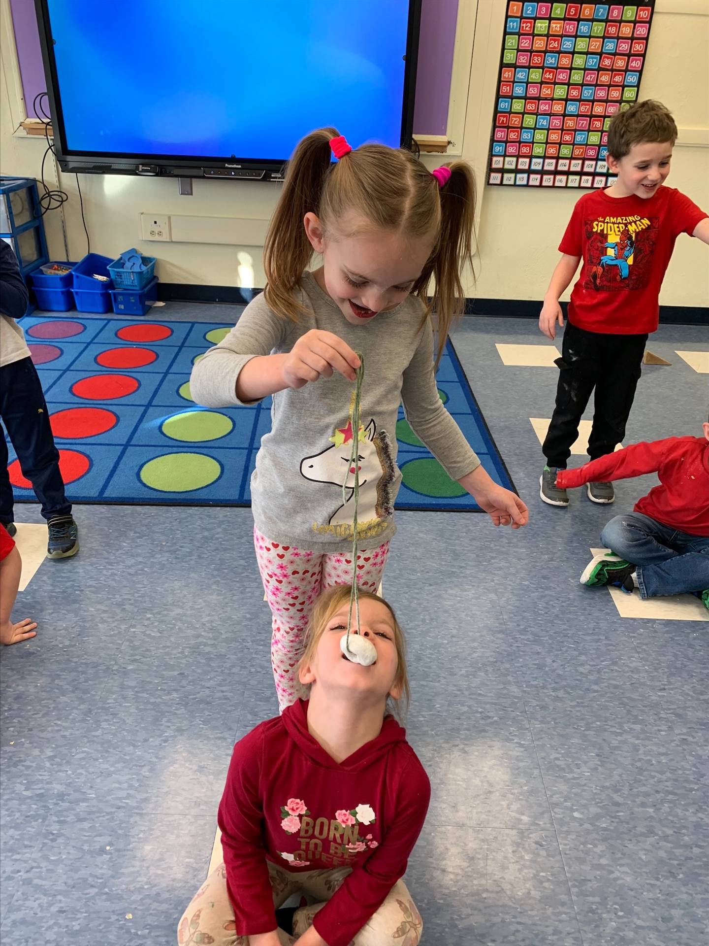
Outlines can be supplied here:
M68 516L71 503L64 494L59 451L49 424L49 412L40 377L32 359L13 361L0 368L0 421L15 448L20 468L32 483L49 520ZM0 522L12 521L12 487L8 473L8 445L0 427Z

